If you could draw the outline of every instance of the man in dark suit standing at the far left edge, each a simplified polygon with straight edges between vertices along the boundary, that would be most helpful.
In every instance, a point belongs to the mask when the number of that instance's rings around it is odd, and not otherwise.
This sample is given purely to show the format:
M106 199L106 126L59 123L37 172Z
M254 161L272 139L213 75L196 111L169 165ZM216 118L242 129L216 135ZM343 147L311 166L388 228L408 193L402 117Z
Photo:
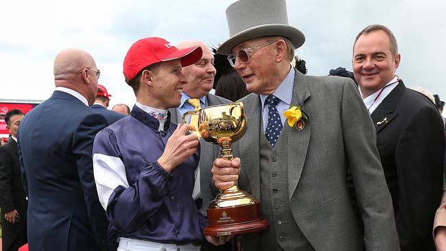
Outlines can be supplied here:
M23 191L17 129L25 114L14 109L6 113L5 122L11 133L8 143L0 147L0 207L2 250L18 250L26 239L27 201Z

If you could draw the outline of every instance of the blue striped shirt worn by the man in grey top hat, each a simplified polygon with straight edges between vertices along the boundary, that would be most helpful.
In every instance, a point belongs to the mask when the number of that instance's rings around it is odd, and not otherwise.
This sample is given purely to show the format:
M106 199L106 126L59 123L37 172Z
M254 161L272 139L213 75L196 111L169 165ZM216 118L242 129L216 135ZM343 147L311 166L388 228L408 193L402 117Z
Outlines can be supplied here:
M287 76L283 79L279 87L277 87L276 91L272 95L278 97L280 100L276 104L276 109L279 112L281 117L282 125L285 123L285 116L283 116L283 112L290 108L291 99L293 96L293 85L294 85L294 67L291 67ZM266 132L266 126L268 125L268 104L265 104L265 100L268 97L268 94L261 94L261 117L263 120L263 132Z

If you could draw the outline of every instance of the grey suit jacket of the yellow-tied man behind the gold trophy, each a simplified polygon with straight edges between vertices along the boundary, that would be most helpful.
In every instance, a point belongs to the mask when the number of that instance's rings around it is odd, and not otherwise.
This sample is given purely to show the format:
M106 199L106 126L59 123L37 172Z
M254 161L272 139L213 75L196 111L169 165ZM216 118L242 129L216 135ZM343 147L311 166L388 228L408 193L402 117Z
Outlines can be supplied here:
M218 104L229 104L232 103L232 101L208 93L206 95L206 103L206 106L215 106ZM170 121L172 121L172 123L183 123L183 115L180 115L178 108L171 108L169 109L169 112L171 113ZM213 195L209 189L211 184L211 168L213 160L220 156L220 147L200 139L200 151L200 163L198 163L198 167L200 167L200 191L203 196L203 204L200 208L200 212L203 215L207 215L207 206L213 199Z

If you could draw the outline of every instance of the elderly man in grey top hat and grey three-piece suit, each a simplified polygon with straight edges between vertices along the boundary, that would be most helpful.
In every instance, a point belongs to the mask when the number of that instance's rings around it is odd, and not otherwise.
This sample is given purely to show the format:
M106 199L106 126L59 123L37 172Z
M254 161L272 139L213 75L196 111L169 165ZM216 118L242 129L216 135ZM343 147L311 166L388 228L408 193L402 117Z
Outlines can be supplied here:
M215 187L238 179L270 226L242 235L243 250L399 250L373 123L353 81L290 66L305 37L288 25L285 0L241 0L226 10L231 38L218 48L242 76L248 130L239 158L213 163ZM239 168L241 167L241 168ZM362 239L347 189L359 200Z

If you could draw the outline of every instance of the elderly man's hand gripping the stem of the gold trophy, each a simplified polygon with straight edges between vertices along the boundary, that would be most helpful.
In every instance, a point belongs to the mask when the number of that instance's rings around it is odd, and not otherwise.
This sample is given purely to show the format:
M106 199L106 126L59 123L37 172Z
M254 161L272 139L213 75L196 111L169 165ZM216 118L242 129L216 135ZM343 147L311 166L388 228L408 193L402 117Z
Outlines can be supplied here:
M240 158L233 158L233 160L217 158L214 160L211 173L215 187L224 190L237 184L240 174L239 167Z

